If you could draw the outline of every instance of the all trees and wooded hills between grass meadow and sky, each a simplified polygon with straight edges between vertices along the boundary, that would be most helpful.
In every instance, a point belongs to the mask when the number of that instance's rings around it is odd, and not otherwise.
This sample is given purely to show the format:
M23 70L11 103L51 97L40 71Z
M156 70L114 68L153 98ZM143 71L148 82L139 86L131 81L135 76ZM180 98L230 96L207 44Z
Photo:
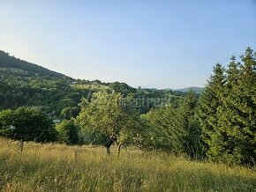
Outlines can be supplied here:
M1 51L0 136L254 165L255 82L251 48L216 64L201 94L73 79Z

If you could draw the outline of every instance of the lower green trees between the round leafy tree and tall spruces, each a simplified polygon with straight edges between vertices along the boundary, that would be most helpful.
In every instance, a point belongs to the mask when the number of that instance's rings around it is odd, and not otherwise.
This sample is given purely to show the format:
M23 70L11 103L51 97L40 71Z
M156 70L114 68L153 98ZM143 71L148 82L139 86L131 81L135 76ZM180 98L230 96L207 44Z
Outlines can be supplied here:
M143 115L147 120L146 146L175 154L185 153L192 159L204 156L200 127L194 109L197 96L189 92L180 107L164 106Z

